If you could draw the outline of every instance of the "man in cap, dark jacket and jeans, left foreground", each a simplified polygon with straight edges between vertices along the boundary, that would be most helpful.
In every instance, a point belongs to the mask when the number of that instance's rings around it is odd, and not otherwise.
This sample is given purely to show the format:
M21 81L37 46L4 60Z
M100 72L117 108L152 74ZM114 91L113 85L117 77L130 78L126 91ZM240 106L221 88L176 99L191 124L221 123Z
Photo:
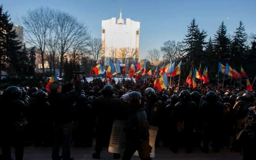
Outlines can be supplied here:
M59 160L59 148L62 145L62 158L69 160L74 108L70 95L61 93L62 87L59 83L51 83L49 88L49 104L55 130L52 159Z

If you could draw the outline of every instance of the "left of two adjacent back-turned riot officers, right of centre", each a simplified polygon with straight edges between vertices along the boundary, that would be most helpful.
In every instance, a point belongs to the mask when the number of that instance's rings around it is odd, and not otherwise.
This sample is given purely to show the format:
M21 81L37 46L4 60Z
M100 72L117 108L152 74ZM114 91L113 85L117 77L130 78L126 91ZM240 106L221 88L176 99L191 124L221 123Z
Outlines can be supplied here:
M184 133L184 139L187 153L192 152L192 133L196 125L197 105L191 101L189 91L183 90L179 95L180 102L174 106L171 120L176 124L176 136L173 140L173 148L170 148L174 153L178 152L177 136L178 133Z

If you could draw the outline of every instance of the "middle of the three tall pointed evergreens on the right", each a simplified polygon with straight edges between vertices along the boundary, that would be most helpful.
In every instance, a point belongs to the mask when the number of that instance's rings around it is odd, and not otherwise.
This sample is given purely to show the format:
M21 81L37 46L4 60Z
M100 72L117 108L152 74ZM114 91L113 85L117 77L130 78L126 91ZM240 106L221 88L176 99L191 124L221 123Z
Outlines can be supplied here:
M227 28L222 21L214 35L214 52L218 60L227 61L230 58L230 38L227 35ZM216 61L217 62L217 61Z

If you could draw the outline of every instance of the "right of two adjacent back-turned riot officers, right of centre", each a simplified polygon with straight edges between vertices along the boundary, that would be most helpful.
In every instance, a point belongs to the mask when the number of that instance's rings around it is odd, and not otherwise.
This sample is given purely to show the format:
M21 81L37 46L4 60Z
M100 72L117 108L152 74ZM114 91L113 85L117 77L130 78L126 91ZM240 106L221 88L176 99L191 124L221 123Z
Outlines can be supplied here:
M203 125L204 131L204 145L201 150L208 153L212 139L212 148L219 152L222 141L223 104L217 101L217 94L213 91L207 92L206 101L199 108L199 122Z

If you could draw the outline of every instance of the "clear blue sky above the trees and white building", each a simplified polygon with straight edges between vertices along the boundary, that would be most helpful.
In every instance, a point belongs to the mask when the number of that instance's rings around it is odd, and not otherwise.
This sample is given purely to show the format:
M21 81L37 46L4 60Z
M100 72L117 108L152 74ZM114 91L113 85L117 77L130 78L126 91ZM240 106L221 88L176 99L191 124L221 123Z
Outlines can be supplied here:
M140 22L139 58L167 40L182 41L193 18L207 31L207 40L222 21L230 35L240 20L249 35L256 33L256 0L1 0L0 4L15 24L29 9L41 6L69 12L95 38L101 38L101 20L118 18L121 5L123 19Z

